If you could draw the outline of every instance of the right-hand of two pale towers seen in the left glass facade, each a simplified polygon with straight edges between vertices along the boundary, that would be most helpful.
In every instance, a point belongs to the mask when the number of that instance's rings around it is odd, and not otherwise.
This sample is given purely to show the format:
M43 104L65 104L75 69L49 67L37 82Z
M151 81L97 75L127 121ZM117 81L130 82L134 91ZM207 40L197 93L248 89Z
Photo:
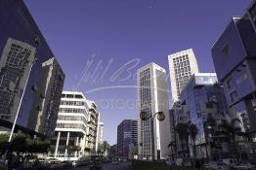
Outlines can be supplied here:
M42 91L37 92L32 107L33 112L29 116L29 119L37 120L29 121L28 126L50 138L54 136L58 119L64 86L64 72L56 58L45 61L42 67L43 74L36 86L36 89L39 88Z

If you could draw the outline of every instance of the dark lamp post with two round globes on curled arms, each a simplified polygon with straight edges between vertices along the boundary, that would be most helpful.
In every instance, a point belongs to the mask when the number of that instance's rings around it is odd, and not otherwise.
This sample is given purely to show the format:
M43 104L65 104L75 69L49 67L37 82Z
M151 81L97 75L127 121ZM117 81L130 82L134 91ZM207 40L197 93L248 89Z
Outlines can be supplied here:
M152 156L152 160L155 159L154 156L154 135L153 135L153 119L154 117L157 116L157 119L159 121L163 121L165 119L165 115L163 114L163 112L157 112L154 115L152 115L151 113L148 114L147 112L143 111L140 114L140 118L145 121L145 120L150 120L150 132L151 132L151 156Z

